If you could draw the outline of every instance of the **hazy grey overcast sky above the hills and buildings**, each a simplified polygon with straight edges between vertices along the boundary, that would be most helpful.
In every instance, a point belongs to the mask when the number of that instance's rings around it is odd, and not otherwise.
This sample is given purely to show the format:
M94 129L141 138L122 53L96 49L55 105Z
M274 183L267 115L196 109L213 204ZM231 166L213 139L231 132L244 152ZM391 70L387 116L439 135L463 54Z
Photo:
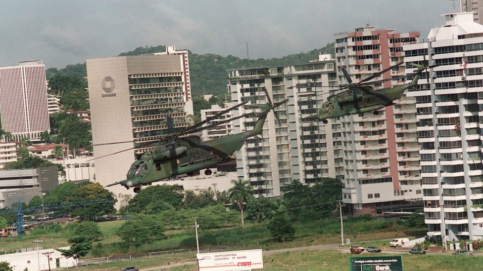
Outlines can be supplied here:
M307 52L366 24L396 32L444 24L459 0L0 0L0 67L61 69L140 46L272 58Z

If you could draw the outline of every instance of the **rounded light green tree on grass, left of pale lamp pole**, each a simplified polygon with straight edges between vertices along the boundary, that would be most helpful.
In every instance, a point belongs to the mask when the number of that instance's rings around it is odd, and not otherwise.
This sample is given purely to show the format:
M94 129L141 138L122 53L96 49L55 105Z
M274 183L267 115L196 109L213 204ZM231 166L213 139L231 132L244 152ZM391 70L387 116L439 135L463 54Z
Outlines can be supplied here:
M125 243L140 246L165 239L164 231L165 228L158 217L146 215L126 221L117 234Z

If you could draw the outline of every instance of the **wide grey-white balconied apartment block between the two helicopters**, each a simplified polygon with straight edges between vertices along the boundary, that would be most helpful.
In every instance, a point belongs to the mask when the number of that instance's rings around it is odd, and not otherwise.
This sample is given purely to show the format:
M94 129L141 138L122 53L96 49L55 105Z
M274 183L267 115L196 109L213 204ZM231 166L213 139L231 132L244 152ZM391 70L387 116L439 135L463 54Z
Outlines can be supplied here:
M324 58L326 60L324 60ZM244 68L229 72L229 91L233 105L244 101L265 104L271 101L289 102L270 113L259 138L249 138L236 153L238 177L250 180L255 195L280 196L281 188L298 179L313 183L325 177L335 177L334 147L331 126L305 117L316 113L322 105L323 89L317 86L337 86L335 61L323 55L304 65L274 68ZM234 116L252 112L234 110ZM234 133L253 129L256 117L234 121ZM340 164L342 165L342 164ZM341 169L339 169L342 171Z

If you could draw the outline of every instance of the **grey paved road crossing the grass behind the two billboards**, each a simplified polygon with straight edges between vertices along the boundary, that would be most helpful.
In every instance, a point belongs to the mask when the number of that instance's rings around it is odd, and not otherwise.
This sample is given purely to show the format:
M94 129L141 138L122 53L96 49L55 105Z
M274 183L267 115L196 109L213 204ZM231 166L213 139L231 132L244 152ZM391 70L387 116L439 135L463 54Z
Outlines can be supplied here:
M409 250L411 248L406 247L398 247L398 248L386 248L383 249L381 252L382 253L392 253L392 254L408 254ZM341 251L341 252L347 252L349 253L349 248L347 247L339 247L338 244L328 244L328 245L315 245L315 246L303 246L303 247L290 247L290 248L282 248L282 249L275 249L275 250L266 250L263 251L263 256L268 256L276 253L282 253L282 252L289 252L289 251L299 251L299 250L336 250L336 251ZM362 256L369 256L369 255L377 255L378 253L372 253L372 252L363 252ZM427 254L451 254L451 252L441 252L440 250L427 250ZM476 255L481 255L481 253L478 253ZM358 256L358 255L355 255ZM461 256L460 256L461 257ZM142 269L140 271L158 271L158 270L167 270L173 267L178 267L178 266L184 266L184 265L194 265L196 264L194 261L193 262L185 262L185 263L172 263L167 266L159 266L159 267L153 267L153 268L147 268L147 269Z

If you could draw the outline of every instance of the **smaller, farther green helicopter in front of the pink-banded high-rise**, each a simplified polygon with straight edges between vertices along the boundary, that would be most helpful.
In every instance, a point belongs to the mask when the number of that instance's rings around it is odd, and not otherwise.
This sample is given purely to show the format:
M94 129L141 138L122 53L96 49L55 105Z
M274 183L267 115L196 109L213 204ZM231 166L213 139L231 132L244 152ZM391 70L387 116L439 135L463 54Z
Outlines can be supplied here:
M317 119L322 120L323 123L327 123L328 118L334 118L339 116L359 114L371 111L374 111L374 114L378 115L377 110L382 109L386 106L394 105L393 101L399 99L404 91L406 91L406 89L416 86L423 70L434 67L411 64L412 66L418 68L418 70L415 77L409 84L394 85L391 87L385 87L377 90L374 89L372 86L363 84L364 82L379 77L385 72L391 70L394 67L400 66L401 64L402 62L391 66L379 73L376 73L370 77L367 77L358 83L352 83L352 80L350 79L347 71L342 68L344 77L349 82L349 85L345 87L347 90L329 96L327 98L327 101L325 101L322 105L322 108L319 110L318 114L312 115L310 117L316 117ZM394 78L383 79L369 83L374 84L377 82L387 81L391 79Z

